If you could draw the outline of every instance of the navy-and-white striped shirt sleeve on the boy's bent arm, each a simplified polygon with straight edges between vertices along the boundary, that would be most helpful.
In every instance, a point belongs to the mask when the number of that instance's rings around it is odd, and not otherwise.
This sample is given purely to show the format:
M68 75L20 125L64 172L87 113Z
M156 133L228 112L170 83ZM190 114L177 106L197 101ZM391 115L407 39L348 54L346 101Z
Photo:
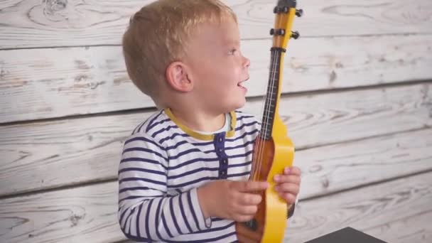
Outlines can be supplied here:
M196 188L167 195L168 155L148 134L135 134L124 143L119 163L121 231L129 239L163 241L209 228Z

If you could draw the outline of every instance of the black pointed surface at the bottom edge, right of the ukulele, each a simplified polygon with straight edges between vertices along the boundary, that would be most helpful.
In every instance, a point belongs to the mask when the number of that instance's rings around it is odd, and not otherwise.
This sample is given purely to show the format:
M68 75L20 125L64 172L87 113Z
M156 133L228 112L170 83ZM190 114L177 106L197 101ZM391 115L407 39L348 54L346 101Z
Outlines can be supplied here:
M381 239L370 236L363 232L346 227L330 234L325 234L322 237L312 239L305 243L387 243Z

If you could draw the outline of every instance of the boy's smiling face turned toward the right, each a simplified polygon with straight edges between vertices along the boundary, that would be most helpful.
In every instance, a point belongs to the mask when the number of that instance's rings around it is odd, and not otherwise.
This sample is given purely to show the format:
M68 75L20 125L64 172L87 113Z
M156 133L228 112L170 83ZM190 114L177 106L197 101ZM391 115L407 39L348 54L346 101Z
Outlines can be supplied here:
M249 59L240 51L237 23L227 18L220 24L203 23L190 37L187 63L200 107L229 112L244 106L249 79Z

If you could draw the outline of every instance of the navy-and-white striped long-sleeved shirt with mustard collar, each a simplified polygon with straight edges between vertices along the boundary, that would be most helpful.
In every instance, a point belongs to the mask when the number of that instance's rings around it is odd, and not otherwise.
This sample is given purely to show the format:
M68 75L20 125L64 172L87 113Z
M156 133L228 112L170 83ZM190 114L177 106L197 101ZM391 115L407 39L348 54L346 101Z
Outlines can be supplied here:
M119 225L138 242L235 242L232 220L205 220L197 188L247 180L259 122L230 112L229 131L201 134L169 109L156 112L124 142L119 164Z

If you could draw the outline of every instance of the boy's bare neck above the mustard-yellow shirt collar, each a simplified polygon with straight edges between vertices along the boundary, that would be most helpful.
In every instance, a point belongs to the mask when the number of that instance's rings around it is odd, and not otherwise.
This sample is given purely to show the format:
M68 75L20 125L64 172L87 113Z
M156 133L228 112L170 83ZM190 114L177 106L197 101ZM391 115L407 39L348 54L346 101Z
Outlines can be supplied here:
M225 125L225 114L210 114L195 109L170 109L175 119L195 131L217 131Z

